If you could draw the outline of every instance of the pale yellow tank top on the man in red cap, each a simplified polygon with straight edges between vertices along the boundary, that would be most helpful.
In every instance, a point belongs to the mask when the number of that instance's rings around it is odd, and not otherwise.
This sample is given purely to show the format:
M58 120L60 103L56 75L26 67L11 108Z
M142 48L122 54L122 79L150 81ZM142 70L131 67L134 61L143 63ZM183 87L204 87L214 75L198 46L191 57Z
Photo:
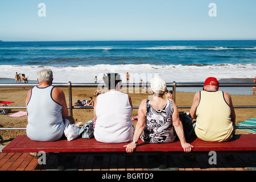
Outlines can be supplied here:
M207 142L224 142L230 139L234 130L230 113L230 106L222 91L201 91L196 109L197 137Z

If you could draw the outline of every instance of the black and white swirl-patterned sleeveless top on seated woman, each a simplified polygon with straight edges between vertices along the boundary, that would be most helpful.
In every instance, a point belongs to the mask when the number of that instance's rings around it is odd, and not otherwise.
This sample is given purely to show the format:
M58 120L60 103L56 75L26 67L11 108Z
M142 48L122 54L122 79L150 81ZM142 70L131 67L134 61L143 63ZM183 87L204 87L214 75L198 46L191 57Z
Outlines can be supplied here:
M176 134L172 125L172 101L167 100L163 109L155 110L146 102L146 126L141 135L141 139L148 143L173 142Z

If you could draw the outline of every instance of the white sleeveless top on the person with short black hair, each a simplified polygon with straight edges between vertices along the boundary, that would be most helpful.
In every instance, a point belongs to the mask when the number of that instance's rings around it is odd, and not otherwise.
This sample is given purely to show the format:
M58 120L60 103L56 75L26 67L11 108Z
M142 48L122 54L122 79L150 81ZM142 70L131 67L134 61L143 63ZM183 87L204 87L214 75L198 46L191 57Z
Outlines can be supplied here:
M98 142L123 143L133 140L131 105L127 94L109 91L97 98L94 137Z

